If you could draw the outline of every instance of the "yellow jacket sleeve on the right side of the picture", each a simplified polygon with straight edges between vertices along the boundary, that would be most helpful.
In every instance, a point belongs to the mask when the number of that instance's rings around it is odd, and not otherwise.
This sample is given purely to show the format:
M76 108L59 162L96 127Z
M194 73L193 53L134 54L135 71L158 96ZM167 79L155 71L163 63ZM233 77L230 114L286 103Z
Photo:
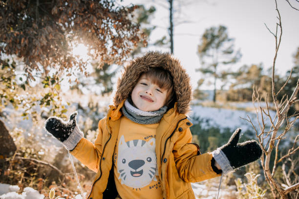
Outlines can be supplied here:
M172 153L181 179L187 182L198 182L221 175L216 174L212 168L212 153L197 155L197 147L191 143L190 128L177 132L177 135Z

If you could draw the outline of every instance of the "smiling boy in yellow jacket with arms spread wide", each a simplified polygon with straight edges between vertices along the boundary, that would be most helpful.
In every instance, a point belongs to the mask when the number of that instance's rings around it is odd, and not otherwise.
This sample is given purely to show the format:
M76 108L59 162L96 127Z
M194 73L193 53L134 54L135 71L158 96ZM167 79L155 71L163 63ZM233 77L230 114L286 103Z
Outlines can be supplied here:
M49 118L45 128L97 173L88 199L195 199L190 182L252 162L261 149L255 141L237 144L237 129L226 145L200 154L185 115L191 90L178 60L149 52L125 67L94 144L83 138L77 113L68 123Z

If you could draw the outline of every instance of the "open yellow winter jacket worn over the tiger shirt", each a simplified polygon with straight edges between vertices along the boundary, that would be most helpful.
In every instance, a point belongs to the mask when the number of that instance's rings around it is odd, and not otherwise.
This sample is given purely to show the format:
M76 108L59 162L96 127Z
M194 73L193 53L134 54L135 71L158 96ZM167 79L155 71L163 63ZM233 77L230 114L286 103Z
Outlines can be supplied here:
M99 135L94 144L83 138L71 151L73 156L97 173L88 199L111 198L111 193L117 195L115 186L111 186L111 182L110 185L107 184L109 180L114 180L113 173L111 174L112 156L123 104L124 101L117 107L109 106L107 117L99 121ZM164 114L157 128L157 167L164 199L195 199L190 182L220 175L212 169L212 154L200 154L199 147L191 143L191 126L192 123L186 115L178 113L175 103L174 107Z

